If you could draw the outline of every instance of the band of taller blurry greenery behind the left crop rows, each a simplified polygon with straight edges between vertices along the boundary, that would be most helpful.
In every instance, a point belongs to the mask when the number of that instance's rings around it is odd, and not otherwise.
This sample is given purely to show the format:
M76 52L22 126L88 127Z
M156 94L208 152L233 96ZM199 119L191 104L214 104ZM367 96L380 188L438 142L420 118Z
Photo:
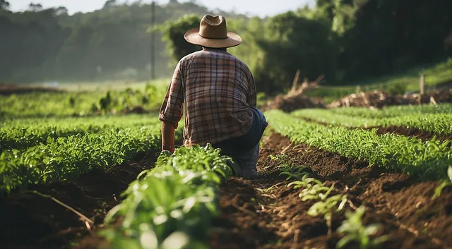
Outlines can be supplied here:
M30 92L0 96L0 121L17 117L124 114L134 108L157 111L165 97L166 84L151 83L124 90Z

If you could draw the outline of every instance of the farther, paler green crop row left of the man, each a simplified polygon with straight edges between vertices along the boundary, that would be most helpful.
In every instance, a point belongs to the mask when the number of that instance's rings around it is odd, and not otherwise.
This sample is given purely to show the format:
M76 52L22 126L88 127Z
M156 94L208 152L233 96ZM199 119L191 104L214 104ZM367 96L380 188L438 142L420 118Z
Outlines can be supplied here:
M129 127L155 126L160 123L149 116L107 116L50 119L12 119L1 123L0 150L25 150L27 147L47 143L49 138L101 133L104 130L124 130ZM153 131L157 133L157 131Z

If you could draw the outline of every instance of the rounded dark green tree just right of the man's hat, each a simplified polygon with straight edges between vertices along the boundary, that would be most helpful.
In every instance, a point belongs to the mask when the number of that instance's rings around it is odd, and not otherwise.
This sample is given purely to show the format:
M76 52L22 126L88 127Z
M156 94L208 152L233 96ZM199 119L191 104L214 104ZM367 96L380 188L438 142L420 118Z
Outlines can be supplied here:
M288 88L298 69L302 78L314 80L326 75L334 81L339 48L328 25L293 12L275 16L269 23L270 35L258 41L265 52L255 73L259 85L266 85L267 92Z

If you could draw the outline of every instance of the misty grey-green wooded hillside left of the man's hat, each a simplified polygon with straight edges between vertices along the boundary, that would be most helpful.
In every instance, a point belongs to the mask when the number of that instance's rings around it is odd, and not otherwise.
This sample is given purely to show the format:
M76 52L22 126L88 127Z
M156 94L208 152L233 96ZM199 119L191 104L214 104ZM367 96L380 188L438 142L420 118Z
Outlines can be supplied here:
M194 2L157 4L155 24L208 12ZM2 4L0 82L146 80L151 66L157 77L169 77L172 69L160 32L155 34L156 64L150 65L152 15L151 5L141 1L120 4L109 0L98 11L71 16L64 7L43 9L30 4L27 11L13 13Z

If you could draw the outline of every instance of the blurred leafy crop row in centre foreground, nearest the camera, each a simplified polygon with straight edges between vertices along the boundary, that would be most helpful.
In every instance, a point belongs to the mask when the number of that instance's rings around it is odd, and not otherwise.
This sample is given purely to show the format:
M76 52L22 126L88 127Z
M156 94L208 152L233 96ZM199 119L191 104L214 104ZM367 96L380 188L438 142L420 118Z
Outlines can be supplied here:
M218 186L232 173L228 157L206 147L162 152L109 211L101 232L110 248L208 248L210 219L218 214Z

